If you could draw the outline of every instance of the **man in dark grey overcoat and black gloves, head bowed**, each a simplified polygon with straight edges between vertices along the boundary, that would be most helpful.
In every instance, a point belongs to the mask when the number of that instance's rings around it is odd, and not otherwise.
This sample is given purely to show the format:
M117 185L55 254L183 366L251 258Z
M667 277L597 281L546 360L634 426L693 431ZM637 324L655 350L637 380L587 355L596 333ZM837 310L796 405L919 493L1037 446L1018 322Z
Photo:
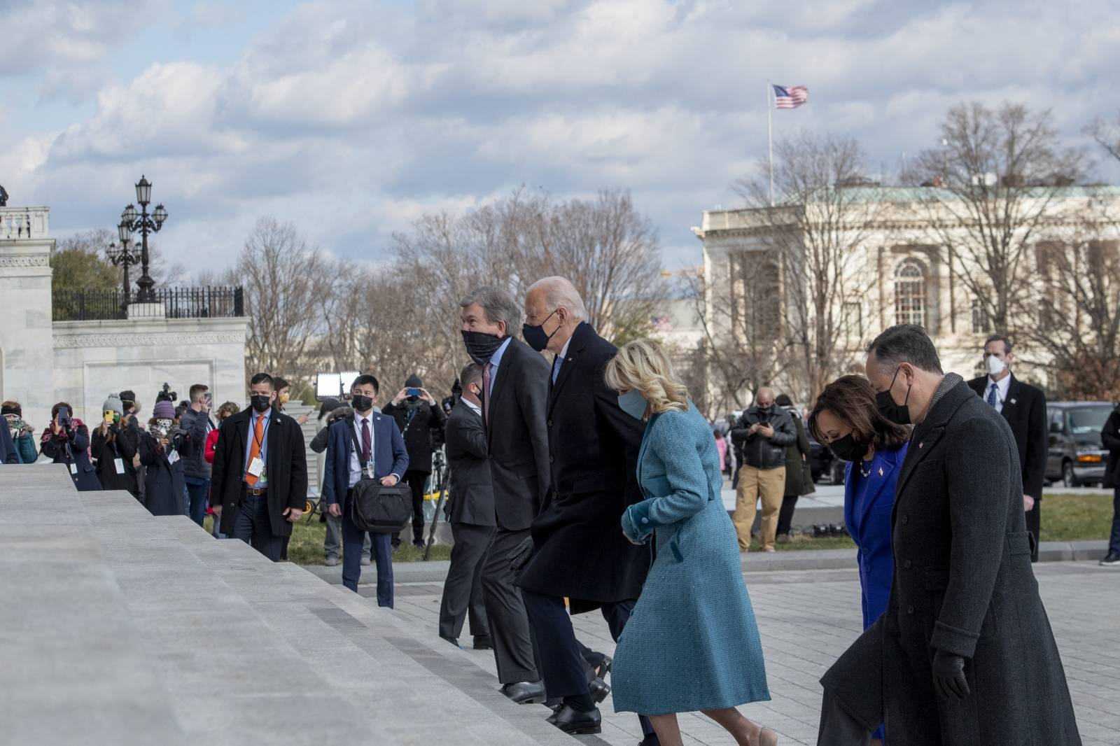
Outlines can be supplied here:
M1030 567L1018 448L918 326L887 329L867 375L914 429L892 515L887 610L821 679L818 744L1081 743Z

